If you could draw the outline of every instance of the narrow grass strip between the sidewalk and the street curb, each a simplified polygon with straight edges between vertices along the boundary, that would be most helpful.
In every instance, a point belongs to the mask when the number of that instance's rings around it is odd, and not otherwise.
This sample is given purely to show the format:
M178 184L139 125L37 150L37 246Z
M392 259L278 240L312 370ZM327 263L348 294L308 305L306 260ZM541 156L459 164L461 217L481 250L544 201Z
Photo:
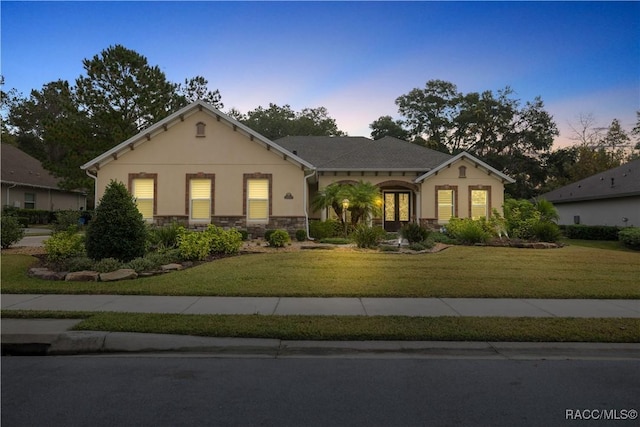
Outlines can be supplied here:
M284 340L640 342L640 319L80 314L5 310L2 317L86 317L75 330Z

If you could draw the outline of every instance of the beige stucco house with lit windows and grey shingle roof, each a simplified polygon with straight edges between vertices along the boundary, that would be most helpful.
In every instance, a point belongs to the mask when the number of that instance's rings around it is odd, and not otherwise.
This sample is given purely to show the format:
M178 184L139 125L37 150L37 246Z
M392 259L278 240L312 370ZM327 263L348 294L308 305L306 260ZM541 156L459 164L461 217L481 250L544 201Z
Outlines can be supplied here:
M82 166L100 200L125 183L149 222L209 223L291 232L308 227L310 200L333 182L377 185L393 231L501 210L513 179L467 153L450 156L395 138L286 137L271 141L197 101Z

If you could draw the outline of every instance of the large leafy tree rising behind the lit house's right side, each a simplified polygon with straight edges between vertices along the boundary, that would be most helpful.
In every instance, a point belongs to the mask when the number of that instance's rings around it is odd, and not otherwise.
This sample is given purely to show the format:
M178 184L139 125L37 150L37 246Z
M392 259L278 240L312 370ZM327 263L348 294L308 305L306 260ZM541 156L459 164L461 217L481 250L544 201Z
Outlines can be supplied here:
M521 104L506 87L497 92L463 94L450 82L430 80L396 99L408 140L456 154L467 151L517 180L514 197L536 195L546 179L542 156L549 153L558 129L542 99ZM383 131L381 117L371 127Z

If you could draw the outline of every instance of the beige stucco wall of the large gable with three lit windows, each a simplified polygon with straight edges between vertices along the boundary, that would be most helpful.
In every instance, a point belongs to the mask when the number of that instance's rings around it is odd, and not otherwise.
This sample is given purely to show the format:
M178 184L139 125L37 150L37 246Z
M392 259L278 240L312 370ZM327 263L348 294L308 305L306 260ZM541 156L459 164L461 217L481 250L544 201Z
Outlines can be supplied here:
M196 136L196 124L206 124ZM303 216L301 168L251 141L240 131L196 112L151 140L104 165L98 173L98 200L113 180L128 185L129 174L157 174L157 216L185 215L187 174L214 174L214 216L243 215L244 174L272 174L272 216ZM293 199L284 196L291 193Z

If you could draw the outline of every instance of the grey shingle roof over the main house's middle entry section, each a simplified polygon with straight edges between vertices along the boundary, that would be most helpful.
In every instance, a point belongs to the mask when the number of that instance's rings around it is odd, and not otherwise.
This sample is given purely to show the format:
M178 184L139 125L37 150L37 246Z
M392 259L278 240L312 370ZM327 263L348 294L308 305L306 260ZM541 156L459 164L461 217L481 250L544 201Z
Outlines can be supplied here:
M287 136L274 141L319 171L403 170L426 172L452 156L397 138Z

